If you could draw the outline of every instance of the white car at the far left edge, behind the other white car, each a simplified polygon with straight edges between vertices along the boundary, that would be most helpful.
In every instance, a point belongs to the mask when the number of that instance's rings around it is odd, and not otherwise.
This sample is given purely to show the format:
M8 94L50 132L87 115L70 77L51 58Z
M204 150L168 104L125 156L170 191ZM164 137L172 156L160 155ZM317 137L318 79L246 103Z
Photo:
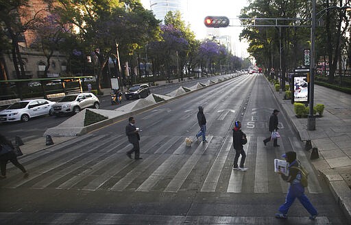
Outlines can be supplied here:
M22 120L27 122L29 118L43 115L51 115L51 106L55 102L46 99L23 100L13 103L3 111L0 111L1 122L11 122Z

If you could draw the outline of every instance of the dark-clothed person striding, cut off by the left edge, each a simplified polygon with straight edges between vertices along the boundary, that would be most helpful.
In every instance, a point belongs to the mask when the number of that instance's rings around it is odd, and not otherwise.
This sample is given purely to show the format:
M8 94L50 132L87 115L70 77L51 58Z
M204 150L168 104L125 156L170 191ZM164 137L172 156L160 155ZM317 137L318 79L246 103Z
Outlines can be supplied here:
M8 164L8 161L12 162L14 166L22 170L24 178L29 176L27 170L25 170L25 168L17 160L12 143L5 136L0 134L0 178L6 178L6 165Z

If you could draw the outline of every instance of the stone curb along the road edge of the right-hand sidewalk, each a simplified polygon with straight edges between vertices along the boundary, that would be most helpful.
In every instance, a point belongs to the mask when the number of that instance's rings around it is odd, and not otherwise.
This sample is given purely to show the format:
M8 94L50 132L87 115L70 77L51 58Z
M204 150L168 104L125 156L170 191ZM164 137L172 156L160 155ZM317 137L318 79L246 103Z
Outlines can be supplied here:
M301 141L306 141L306 140L311 140L311 137L309 137L308 132L301 127L299 124L298 120L294 120L291 118L289 115L289 108L287 108L287 103L284 101L280 100L274 93L274 89L270 85L269 81L267 80L267 77L265 77L269 88L276 99L278 103L280 104L282 111L285 113L285 117L289 118L290 122L293 124L293 129L295 130L296 133L298 133L300 140ZM325 160L325 159L323 159ZM328 187L330 191L332 192L332 196L334 196L335 201L337 204L339 204L339 207L343 211L344 215L346 216L348 220L348 224L351 224L351 190L350 187L348 187L348 184L346 181L343 180L343 177L340 174L326 174L323 170L319 170L314 163L312 163L313 168L317 170L320 174L322 174L323 178L325 179L326 183L328 184Z

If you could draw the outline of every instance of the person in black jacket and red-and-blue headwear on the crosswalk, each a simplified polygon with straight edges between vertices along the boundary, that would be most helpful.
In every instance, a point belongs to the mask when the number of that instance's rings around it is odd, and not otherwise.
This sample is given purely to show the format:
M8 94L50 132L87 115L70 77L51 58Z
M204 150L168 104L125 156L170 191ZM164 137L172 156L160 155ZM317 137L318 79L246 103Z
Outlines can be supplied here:
M235 121L235 126L233 128L233 146L235 150L233 170L247 170L244 167L246 153L243 148L243 144L247 143L246 135L241 131L241 122ZM240 167L238 167L239 156L241 155Z

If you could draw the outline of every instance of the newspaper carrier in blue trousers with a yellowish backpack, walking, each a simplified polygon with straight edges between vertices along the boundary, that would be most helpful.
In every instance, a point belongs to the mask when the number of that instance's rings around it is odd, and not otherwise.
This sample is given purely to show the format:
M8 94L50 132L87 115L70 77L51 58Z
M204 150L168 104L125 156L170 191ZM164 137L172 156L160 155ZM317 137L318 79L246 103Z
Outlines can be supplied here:
M279 173L284 181L290 183L290 186L288 189L287 197L285 198L285 203L279 207L279 213L276 213L276 217L280 219L287 219L287 213L291 207L291 204L293 204L295 198L298 198L308 213L311 214L309 217L310 220L315 220L318 212L315 207L313 207L310 200L308 200L307 196L304 194L304 186L302 186L301 183L302 174L300 170L298 170L300 162L296 159L296 153L290 151L282 155L282 157L285 158L285 160L289 163L289 173L287 176L285 176L285 174L282 172Z

